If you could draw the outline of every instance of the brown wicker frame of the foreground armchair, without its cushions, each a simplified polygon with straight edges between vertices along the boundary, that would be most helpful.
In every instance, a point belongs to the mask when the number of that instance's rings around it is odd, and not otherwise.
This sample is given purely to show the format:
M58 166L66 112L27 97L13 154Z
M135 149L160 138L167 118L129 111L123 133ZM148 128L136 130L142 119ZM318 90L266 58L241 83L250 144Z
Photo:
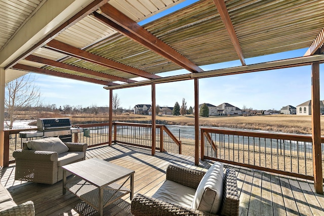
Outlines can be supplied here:
M204 171L169 165L167 180L197 189ZM237 192L236 175L234 169L226 169L223 178L223 198L219 215L238 215L239 197ZM152 197L137 194L131 203L132 214L138 215L216 215L192 209Z

